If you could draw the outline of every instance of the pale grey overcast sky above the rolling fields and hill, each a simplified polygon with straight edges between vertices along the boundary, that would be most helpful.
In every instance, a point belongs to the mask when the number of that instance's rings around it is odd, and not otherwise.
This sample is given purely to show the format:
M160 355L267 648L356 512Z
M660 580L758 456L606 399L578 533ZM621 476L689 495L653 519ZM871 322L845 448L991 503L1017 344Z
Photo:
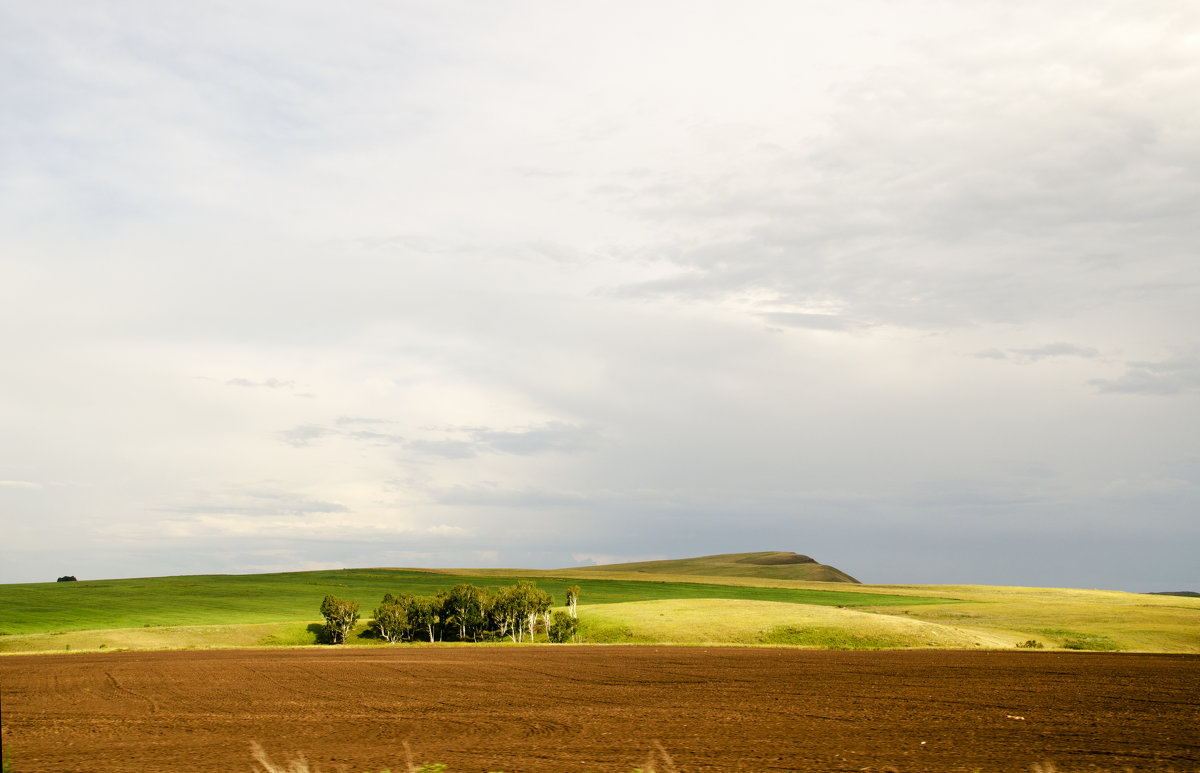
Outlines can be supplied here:
M1200 5L0 0L0 582L1200 589Z

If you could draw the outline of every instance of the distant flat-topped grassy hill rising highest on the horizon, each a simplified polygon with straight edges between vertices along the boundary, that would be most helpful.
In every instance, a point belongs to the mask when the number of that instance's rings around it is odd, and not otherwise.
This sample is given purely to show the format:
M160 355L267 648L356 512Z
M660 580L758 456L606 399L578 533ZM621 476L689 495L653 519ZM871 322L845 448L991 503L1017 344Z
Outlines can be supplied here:
M853 582L845 571L817 563L800 553L762 551L757 553L720 553L697 558L642 561L628 564L586 567L588 571L635 573L652 575L686 575L692 577L768 577L773 580L808 580L810 582ZM562 571L569 571L563 569Z

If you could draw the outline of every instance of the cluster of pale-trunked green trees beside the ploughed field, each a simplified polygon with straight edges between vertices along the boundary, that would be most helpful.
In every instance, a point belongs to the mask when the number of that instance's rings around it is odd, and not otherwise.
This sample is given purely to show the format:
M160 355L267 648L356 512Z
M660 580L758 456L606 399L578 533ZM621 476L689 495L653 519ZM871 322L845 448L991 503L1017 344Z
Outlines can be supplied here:
M552 642L578 641L580 586L566 589L566 611L552 611L554 597L527 580L498 588L458 583L434 595L386 593L371 612L368 635L402 641L534 641L539 633ZM320 605L325 641L346 643L359 622L359 603L330 594Z

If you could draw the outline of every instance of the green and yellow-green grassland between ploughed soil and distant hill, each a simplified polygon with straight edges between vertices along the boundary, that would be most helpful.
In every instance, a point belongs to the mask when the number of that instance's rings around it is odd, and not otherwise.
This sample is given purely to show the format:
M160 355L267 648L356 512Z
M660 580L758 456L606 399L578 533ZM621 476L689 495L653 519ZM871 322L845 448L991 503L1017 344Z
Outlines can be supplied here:
M725 564L730 562L724 561ZM678 563L670 569L678 568ZM690 570L703 573L703 562ZM724 570L724 567L721 568ZM0 653L313 645L326 593L359 601L361 631L384 593L533 580L562 603L581 587L586 641L1200 653L1200 599L1069 588L866 586L642 570L350 569L0 586ZM382 646L354 639L355 646ZM412 646L412 645L409 645Z

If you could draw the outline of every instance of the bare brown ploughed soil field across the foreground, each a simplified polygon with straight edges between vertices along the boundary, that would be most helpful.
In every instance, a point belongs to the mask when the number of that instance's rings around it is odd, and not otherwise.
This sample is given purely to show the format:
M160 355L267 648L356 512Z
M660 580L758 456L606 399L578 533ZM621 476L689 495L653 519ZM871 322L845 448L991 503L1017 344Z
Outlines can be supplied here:
M0 658L37 771L1200 771L1200 658L395 647ZM661 744L661 751L656 744ZM664 756L664 753L667 756Z

